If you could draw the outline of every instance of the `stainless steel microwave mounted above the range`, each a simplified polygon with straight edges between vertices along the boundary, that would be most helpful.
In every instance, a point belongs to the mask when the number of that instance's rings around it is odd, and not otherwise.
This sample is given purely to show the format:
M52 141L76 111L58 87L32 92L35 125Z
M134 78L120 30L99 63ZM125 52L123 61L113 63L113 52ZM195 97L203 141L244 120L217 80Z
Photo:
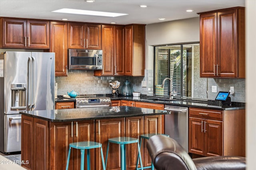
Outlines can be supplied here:
M102 70L102 50L68 49L69 70Z

